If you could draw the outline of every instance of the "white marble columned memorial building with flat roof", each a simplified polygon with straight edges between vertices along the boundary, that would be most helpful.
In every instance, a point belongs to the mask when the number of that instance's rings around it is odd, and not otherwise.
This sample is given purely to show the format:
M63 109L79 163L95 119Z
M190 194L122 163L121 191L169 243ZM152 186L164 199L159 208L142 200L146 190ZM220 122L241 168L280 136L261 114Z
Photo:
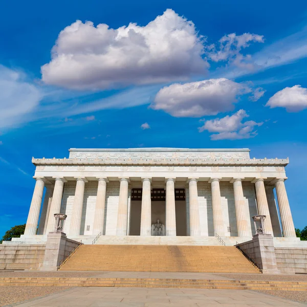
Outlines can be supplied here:
M25 234L15 240L46 241L55 213L67 214L69 238L89 244L99 234L100 243L205 245L218 234L234 244L252 237L256 214L267 216L275 240L296 240L288 159L251 159L246 148L69 151L68 159L32 159L33 199ZM165 237L151 236L157 220Z

